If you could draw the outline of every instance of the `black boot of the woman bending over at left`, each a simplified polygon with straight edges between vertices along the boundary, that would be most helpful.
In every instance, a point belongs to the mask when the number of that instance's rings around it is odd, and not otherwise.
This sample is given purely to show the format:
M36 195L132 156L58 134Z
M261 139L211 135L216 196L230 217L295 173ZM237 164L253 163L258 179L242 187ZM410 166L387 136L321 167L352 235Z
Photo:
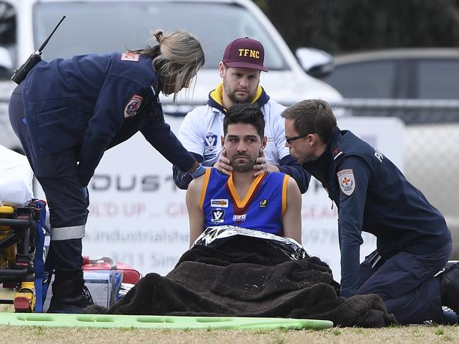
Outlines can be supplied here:
M83 313L83 308L94 305L84 283L81 276L54 281L48 313Z

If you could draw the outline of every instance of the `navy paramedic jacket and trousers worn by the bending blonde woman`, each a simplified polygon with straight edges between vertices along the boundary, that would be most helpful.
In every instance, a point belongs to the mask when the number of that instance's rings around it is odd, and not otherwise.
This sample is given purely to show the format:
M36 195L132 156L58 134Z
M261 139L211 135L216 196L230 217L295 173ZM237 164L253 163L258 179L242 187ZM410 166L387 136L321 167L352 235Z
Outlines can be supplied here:
M148 56L88 54L41 61L14 90L10 120L47 196L56 278L81 270L86 187L106 149L141 131L172 164L193 166L165 123L160 82Z

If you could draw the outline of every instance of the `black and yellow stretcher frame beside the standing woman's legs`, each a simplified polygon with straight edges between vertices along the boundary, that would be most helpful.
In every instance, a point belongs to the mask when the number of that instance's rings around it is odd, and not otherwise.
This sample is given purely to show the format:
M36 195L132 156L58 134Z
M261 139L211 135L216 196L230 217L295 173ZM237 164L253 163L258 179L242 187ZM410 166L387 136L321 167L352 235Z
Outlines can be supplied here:
M15 312L42 312L47 279L44 271L45 202L25 207L0 207L0 288L13 290L13 299L1 293L1 304Z

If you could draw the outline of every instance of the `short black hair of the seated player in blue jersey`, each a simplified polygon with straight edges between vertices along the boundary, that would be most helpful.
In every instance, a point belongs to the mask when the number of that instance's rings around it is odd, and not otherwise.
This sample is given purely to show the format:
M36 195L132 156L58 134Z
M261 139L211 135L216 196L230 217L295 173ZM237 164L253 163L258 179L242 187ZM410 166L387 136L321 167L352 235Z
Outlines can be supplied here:
M260 139L263 139L265 135L265 117L261 112L260 106L257 104L234 104L231 106L225 114L225 120L223 121L223 135L228 133L229 124L251 124L256 128L256 132Z

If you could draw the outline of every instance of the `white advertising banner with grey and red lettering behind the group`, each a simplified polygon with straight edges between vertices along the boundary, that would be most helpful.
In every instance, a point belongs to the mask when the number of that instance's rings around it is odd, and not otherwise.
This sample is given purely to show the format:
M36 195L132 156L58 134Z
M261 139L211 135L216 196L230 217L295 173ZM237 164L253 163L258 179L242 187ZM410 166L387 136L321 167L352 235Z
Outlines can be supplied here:
M181 118L166 118L178 133ZM374 145L403 171L405 127L397 118L340 118L338 125ZM172 178L172 165L137 134L109 149L89 185L90 215L83 254L112 257L143 275L165 275L189 248L185 191ZM338 209L314 178L303 195L302 240L309 254L340 276ZM362 259L376 240L363 235Z

